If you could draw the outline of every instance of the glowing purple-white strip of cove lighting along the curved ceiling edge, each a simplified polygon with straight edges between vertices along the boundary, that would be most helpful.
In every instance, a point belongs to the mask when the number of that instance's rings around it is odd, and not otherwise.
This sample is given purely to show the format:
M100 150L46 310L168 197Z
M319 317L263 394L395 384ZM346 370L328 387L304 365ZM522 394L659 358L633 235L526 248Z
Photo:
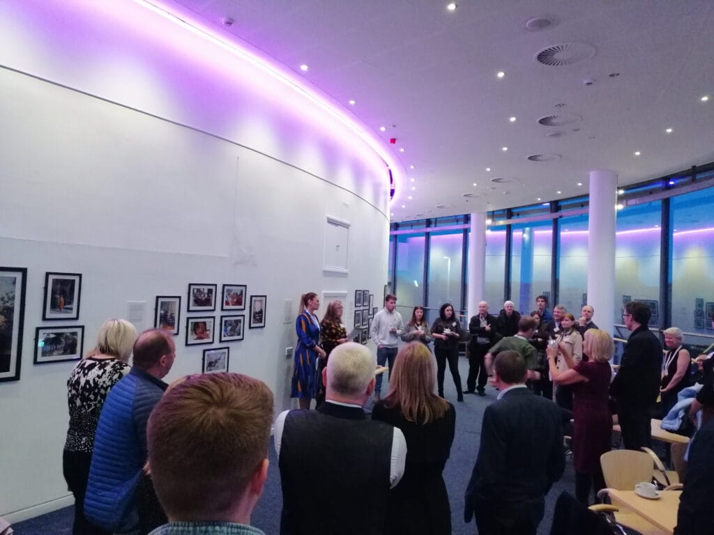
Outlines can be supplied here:
M283 83L284 86L293 89L293 91L296 91L296 93L303 96L303 98L307 98L309 101L316 104L323 111L326 111L329 116L337 119L340 123L347 126L349 130L355 133L358 138L361 138L361 140L364 141L384 161L387 168L386 170L388 171L388 173L385 173L386 179L389 180L391 178L392 180L392 183L388 185L391 194L390 202L392 203L397 199L396 191L404 182L403 167L400 163L398 163L398 161L394 160L392 154L383 147L383 141L381 138L377 138L376 136L371 135L371 133L368 133L368 131L366 131L360 123L354 121L351 117L346 115L346 113L342 111L341 107L334 105L331 101L328 101L327 98L324 98L319 93L316 93L315 90L311 88L311 86L308 86L305 81L300 78L296 78L291 73L288 73L284 68L281 68L281 66L271 65L265 58L261 58L257 54L253 53L253 51L239 46L238 44L224 41L210 29L199 26L195 21L189 22L186 19L182 19L166 6L160 5L158 2L148 0L134 0L134 2L154 14L162 16L164 19L173 22L182 29L190 31L192 34L201 37L201 39L205 39L211 44L216 45L245 61L248 61L253 64L253 66L260 68L277 81Z

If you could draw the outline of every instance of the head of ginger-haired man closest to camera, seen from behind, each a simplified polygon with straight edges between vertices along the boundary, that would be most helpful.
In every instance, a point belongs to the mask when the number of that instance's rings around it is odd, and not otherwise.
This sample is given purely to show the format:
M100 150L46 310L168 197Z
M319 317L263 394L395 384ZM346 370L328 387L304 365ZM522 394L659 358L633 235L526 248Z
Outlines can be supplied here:
M242 374L197 374L149 418L149 467L169 524L151 535L263 535L251 513L268 477L273 393Z

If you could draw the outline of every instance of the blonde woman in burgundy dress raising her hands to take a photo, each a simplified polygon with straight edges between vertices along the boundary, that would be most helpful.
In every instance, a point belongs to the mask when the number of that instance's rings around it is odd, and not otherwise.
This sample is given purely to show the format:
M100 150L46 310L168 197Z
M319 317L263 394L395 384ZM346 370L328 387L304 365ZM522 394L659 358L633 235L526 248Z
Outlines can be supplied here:
M615 350L613 339L599 329L585 331L584 351L588 362L568 362L569 370L558 371L555 359L573 357L563 347L548 347L548 365L555 384L570 384L573 389L573 464L575 465L575 496L588 505L590 489L595 494L605 486L600 455L609 452L613 433L613 417L608 403L608 388L613 377L610 359Z

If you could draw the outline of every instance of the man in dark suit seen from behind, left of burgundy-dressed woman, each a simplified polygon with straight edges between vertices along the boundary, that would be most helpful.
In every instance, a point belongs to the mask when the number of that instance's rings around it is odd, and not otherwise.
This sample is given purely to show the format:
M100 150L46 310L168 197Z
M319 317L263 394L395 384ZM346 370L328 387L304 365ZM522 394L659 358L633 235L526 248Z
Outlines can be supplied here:
M466 489L464 520L479 535L535 534L545 494L565 469L560 409L526 388L526 361L503 351L493 364L498 401L486 407Z

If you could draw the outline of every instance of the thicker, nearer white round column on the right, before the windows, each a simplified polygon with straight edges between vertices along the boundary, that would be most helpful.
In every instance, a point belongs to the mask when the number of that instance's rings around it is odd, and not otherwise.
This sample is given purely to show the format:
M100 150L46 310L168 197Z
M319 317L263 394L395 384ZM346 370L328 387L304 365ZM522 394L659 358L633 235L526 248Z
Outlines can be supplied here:
M588 303L595 308L593 321L610 334L615 325L617 188L618 175L614 171L590 171Z

